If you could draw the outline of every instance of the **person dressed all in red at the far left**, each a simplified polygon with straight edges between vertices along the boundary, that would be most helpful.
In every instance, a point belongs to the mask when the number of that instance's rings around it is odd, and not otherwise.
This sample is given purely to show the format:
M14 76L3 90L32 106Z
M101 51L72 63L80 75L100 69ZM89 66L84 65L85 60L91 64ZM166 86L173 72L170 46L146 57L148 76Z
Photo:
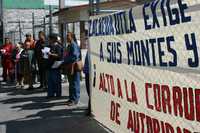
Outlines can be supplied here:
M9 38L5 38L5 44L0 48L2 54L2 66L3 66L3 81L11 79L12 70L14 64L12 62L12 50L13 45Z

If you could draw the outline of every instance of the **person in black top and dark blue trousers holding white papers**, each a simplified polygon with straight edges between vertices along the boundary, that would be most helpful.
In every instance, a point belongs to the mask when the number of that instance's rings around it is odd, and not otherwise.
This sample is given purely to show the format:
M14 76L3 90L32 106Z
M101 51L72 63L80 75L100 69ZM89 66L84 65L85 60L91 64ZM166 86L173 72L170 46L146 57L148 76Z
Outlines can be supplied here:
M57 34L49 35L48 53L48 93L47 98L60 97L62 95L61 89L61 72L60 68L52 68L56 61L62 60L62 46L57 42Z

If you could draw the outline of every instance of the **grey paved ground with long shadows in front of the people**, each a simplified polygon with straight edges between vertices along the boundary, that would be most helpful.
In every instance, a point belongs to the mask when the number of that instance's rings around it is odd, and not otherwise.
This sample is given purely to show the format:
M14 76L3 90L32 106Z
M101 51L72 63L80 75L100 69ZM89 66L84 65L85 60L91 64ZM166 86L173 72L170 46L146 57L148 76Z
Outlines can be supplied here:
M47 100L42 90L27 91L15 85L0 85L0 133L107 133L86 117L87 95L81 83L81 102L67 107L67 84L63 97Z

